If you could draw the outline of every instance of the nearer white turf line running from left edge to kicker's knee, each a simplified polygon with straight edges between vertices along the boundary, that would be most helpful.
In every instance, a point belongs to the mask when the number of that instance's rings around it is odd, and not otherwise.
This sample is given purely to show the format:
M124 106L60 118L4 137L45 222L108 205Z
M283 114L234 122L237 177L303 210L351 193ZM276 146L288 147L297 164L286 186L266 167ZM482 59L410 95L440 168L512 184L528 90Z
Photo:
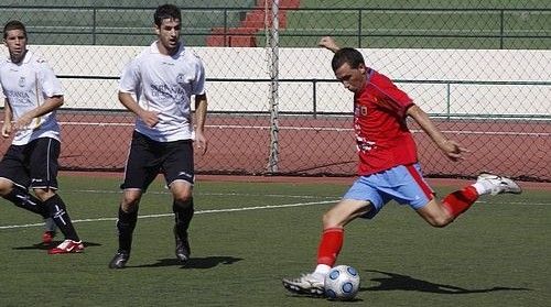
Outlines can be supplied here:
M220 213L220 212L238 212L238 211L251 211L251 210L263 210L263 209L279 209L279 208L304 207L304 206L334 204L336 201L338 201L338 199L323 200L323 201L311 201L311 202L287 204L287 205L269 205L269 206L229 208L229 209L208 209L208 210L198 210L198 211L195 211L195 215L208 215L208 213ZM164 218L164 217L173 217L173 216L174 216L173 212L170 212L170 213L159 213L159 215L145 215L145 216L138 216L138 219ZM73 220L73 223L78 223L78 222L96 222L96 221L116 221L116 220L117 220L117 218L77 219L77 220ZM44 226L44 223L41 222L41 223L26 223L26 224L10 224L10 226L0 226L0 230L2 230L2 229L15 229L15 228L41 227L41 226Z

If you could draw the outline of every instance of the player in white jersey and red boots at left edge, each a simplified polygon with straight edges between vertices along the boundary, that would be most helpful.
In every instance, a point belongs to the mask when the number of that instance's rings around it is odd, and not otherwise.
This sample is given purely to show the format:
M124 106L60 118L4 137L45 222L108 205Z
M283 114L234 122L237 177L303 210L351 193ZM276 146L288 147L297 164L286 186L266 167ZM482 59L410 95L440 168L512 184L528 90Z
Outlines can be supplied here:
M46 62L26 48L23 23L8 22L3 43L9 57L0 63L6 102L1 133L3 138L13 135L13 141L0 161L0 196L53 219L65 241L48 250L50 254L79 253L84 244L56 193L61 144L55 110L64 102L61 83Z

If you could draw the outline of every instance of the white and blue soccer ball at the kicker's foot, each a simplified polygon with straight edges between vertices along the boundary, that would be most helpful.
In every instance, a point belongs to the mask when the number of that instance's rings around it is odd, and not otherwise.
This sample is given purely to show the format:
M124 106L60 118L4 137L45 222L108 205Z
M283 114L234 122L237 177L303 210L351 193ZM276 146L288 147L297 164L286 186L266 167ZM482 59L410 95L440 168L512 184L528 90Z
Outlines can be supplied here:
M337 265L325 275L325 296L328 299L350 300L359 290L359 273L348 265Z

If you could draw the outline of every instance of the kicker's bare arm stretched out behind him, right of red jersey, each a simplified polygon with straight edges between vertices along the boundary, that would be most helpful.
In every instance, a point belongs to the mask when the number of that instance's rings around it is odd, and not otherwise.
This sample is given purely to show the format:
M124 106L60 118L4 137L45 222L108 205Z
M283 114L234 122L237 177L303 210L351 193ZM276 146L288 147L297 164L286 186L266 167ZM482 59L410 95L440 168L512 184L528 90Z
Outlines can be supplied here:
M413 120L421 127L421 129L431 138L431 140L439 146L440 150L452 161L462 160L462 153L468 152L468 150L460 146L458 143L442 134L442 132L434 125L429 116L419 106L413 105L408 109L408 116L412 117Z

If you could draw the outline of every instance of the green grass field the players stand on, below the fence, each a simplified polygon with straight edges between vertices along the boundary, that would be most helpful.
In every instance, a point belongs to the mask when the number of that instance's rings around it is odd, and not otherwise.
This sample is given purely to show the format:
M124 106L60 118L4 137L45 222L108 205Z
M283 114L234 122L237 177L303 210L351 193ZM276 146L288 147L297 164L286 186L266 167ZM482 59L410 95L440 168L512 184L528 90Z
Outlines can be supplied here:
M1 201L0 306L549 306L551 191L480 199L445 229L389 204L346 229L338 264L361 274L355 301L293 296L282 277L312 270L320 218L346 185L197 183L192 259L174 257L171 197L144 196L126 270L117 249L119 179L61 177L86 242L47 255L40 219ZM436 187L440 195L454 187ZM60 238L57 238L60 239Z

